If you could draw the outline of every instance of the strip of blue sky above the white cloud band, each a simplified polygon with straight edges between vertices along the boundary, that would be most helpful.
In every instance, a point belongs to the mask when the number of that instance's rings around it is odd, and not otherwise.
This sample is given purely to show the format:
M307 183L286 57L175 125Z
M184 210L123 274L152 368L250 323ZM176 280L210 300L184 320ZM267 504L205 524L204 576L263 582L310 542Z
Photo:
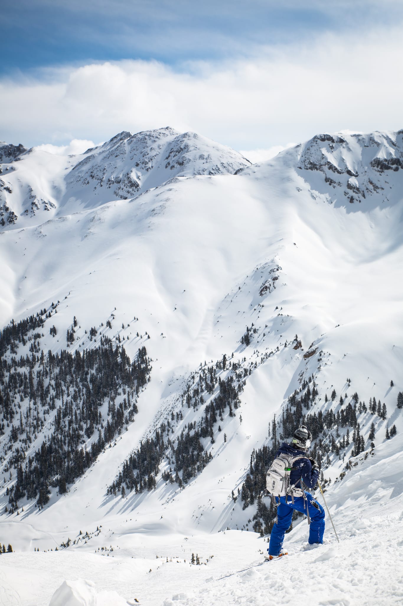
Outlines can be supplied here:
M248 55L318 32L402 18L399 0L14 0L2 6L2 73L90 61Z

